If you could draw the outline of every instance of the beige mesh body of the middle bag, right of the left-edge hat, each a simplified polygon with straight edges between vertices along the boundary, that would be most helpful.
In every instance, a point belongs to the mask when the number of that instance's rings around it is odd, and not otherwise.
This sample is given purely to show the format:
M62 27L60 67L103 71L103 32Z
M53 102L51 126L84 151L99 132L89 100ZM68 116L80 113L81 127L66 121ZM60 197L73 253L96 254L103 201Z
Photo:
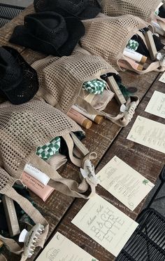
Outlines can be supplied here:
M45 61L48 59L48 66ZM50 63L51 60L51 63ZM43 66L41 66L43 63ZM86 51L73 52L59 59L45 58L32 65L38 74L38 97L67 113L75 104L85 81L100 79L102 74L116 70L103 58Z

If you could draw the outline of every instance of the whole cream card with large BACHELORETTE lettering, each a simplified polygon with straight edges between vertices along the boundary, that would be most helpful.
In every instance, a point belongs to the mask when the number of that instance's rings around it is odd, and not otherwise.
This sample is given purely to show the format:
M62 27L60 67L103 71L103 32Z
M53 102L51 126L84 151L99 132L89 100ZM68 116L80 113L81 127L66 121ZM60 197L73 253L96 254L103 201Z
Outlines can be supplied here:
M138 223L99 195L85 203L72 223L115 257L138 227Z

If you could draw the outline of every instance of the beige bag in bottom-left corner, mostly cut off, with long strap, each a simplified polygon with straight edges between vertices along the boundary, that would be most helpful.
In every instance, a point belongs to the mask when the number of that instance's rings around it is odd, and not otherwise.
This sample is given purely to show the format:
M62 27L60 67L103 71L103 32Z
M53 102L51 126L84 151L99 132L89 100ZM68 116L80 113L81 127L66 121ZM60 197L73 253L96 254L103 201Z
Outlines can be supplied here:
M17 194L15 189L13 189L13 185L15 182L21 182L17 178L13 178L8 173L0 168L0 194L8 196L10 199L16 201L20 207L24 210L29 217L37 224L40 223L43 225L44 230L41 236L38 236L38 242L36 246L43 247L45 243L46 236L48 235L48 222L45 218L41 215L41 213L32 206L29 200L25 199L20 194ZM22 255L21 261L27 260L27 255L24 253L24 248L20 248L20 246L13 240L7 239L0 235L1 241L3 241L4 245L10 250L10 252L15 253L17 255ZM5 260L5 258L0 255L0 260Z

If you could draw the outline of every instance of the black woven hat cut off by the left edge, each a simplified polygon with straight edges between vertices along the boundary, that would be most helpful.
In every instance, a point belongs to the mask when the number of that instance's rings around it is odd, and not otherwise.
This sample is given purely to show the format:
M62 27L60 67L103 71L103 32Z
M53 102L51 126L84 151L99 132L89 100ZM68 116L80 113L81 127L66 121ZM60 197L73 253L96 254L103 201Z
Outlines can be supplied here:
M0 47L0 93L14 105L29 102L38 91L38 77L20 53Z

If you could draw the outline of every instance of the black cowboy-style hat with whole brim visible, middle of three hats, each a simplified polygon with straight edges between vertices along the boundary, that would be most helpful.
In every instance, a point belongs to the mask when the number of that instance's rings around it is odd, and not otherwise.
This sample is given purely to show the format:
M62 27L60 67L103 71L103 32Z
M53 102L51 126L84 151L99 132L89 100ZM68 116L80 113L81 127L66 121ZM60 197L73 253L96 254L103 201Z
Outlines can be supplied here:
M25 16L24 25L15 27L10 42L62 57L71 55L84 34L85 27L78 18L41 12Z

